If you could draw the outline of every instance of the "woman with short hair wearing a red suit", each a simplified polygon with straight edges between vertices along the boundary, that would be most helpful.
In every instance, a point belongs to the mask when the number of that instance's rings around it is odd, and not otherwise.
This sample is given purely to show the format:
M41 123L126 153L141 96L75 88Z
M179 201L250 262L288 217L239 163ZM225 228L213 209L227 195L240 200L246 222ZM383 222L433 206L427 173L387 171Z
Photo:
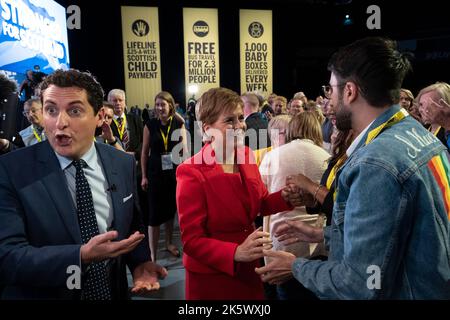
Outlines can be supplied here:
M292 208L285 193L268 194L243 146L242 108L231 90L203 94L197 119L208 143L177 169L186 299L264 299L255 267L271 241L253 221Z

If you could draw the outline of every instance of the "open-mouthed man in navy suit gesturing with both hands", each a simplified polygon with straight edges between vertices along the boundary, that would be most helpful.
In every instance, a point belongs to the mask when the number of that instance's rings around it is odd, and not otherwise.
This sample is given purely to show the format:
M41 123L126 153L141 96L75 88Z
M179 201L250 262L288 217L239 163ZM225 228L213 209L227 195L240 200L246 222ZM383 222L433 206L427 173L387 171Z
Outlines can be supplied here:
M94 143L103 90L58 70L41 85L47 141L0 157L0 286L6 299L109 300L159 288L135 214L135 161Z

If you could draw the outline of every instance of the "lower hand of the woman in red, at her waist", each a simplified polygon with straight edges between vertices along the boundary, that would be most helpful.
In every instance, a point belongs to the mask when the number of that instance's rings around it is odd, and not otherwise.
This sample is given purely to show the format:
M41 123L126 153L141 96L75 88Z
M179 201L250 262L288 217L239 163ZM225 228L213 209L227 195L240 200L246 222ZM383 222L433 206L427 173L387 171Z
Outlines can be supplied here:
M234 253L234 261L251 262L264 256L263 249L272 248L272 240L268 232L261 231L259 227L241 243Z

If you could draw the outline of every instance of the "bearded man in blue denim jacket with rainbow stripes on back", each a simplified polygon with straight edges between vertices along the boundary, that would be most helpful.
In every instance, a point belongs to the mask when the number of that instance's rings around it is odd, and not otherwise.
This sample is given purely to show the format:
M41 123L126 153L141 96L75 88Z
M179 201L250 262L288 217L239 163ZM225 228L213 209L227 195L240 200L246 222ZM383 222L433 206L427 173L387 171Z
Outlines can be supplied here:
M336 125L359 135L336 179L324 232L329 259L266 251L272 263L257 269L264 281L293 275L321 299L450 299L450 166L445 147L394 105L409 67L382 38L356 41L331 58L327 93ZM289 224L302 241L323 239Z

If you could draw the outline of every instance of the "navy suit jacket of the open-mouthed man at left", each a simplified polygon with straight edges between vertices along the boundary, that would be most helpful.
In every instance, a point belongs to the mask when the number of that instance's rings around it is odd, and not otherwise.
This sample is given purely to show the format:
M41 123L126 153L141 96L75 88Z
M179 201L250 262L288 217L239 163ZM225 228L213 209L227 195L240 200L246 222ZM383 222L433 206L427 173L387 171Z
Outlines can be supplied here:
M111 191L112 228L118 240L139 229L135 161L96 143ZM47 141L0 157L0 286L6 299L77 299L68 290L67 267L80 265L77 213L56 155ZM127 295L125 264L131 270L150 260L147 241L111 263L115 298Z

